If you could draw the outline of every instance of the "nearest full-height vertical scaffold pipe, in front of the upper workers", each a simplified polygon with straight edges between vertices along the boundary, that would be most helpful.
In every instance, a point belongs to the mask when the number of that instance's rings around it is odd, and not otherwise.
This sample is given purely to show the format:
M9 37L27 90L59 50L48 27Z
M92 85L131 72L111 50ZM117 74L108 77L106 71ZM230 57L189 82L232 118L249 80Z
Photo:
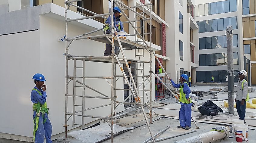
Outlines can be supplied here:
M114 3L111 0L111 33L114 33ZM114 142L114 56L115 56L115 45L114 45L114 35L111 36L111 143Z

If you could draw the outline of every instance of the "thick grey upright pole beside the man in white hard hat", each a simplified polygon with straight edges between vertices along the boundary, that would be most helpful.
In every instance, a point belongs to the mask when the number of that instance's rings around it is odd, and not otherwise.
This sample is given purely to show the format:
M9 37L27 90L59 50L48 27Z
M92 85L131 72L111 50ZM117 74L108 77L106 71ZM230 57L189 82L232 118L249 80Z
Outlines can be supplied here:
M234 67L233 67L233 31L232 25L226 28L228 53L228 114L234 114Z

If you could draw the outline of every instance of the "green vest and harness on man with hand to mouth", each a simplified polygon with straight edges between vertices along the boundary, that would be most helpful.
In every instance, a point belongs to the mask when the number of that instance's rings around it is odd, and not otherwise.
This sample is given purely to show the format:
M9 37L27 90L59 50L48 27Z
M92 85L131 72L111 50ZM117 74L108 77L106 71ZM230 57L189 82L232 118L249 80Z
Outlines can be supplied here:
M42 93L41 93L40 91L38 91L37 89L32 89L32 90L37 91L38 94L42 96ZM33 103L33 111L36 112L36 117L34 118L34 132L33 132L34 140L35 140L35 132L36 132L37 129L38 129L38 123L39 123L39 116L40 116L40 113L42 113L43 115L44 115L45 113L48 114L48 110L49 110L49 108L47 108L46 102L45 102L45 104L40 104L39 102ZM45 120L43 121L43 123L45 123L46 120L47 120L47 118L45 118Z

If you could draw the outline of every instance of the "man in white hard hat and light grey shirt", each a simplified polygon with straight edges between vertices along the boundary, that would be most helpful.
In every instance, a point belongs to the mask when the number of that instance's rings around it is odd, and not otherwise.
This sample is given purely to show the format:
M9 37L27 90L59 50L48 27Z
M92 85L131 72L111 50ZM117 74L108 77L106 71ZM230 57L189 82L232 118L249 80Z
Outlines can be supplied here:
M237 92L236 92L236 109L239 115L240 120L244 120L245 117L245 108L246 102L249 101L249 92L248 92L248 82L244 79L247 76L245 70L241 70L239 73L239 81L237 83ZM244 120L245 123L245 120Z

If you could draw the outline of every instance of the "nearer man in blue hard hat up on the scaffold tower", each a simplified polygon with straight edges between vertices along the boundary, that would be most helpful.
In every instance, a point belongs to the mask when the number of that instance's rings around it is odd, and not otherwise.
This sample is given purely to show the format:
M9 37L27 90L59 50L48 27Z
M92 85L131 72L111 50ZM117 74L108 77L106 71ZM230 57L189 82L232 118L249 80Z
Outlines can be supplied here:
M121 10L118 7L114 7L113 10L114 10L114 27L115 27L116 31L118 32L119 29L116 26L117 25L116 18L119 17L119 14L121 14ZM103 25L103 28L104 28L104 31L103 31L104 34L110 34L111 33L111 29L110 29L111 28L111 15L108 16L107 20L105 21L105 23ZM111 50L112 50L112 45L111 44L106 44L103 56L110 56L111 55ZM119 54L119 51L120 51L119 47L115 46L115 54L117 56Z

